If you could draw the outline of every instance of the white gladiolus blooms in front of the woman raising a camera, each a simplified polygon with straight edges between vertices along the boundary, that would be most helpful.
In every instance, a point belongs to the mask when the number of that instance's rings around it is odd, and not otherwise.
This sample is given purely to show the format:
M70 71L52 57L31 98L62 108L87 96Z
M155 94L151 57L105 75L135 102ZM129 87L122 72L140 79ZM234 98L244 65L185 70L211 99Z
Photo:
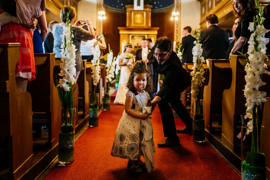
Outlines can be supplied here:
M71 24L68 24L67 26L63 27L63 34L60 35L62 38L62 45L61 45L61 61L60 63L60 76L63 76L63 79L59 80L59 84L57 86L60 86L65 91L70 91L69 84L75 83L74 76L76 75L76 68L75 68L75 58L76 58L76 48L75 45L73 45L73 42L71 41L71 38L74 37L73 34L70 32ZM66 37L66 44L65 44L65 37Z

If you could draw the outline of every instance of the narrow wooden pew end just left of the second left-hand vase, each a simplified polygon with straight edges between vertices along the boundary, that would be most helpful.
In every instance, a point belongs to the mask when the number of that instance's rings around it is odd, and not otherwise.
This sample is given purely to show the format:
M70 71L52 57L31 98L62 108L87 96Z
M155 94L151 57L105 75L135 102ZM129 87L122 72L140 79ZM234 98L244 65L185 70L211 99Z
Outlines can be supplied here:
M89 116L89 82L86 80L86 60L83 60L84 70L80 72L77 79L77 84L79 88L79 97L83 99L83 114L82 116L86 118Z

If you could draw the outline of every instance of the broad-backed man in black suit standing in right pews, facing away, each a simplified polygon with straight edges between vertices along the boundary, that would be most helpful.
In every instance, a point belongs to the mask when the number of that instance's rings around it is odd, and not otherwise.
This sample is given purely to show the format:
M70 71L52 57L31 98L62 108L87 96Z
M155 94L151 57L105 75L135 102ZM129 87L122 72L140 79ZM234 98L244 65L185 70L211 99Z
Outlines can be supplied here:
M228 32L218 27L218 17L215 14L206 17L206 27L201 31L200 39L204 59L225 59L229 46Z

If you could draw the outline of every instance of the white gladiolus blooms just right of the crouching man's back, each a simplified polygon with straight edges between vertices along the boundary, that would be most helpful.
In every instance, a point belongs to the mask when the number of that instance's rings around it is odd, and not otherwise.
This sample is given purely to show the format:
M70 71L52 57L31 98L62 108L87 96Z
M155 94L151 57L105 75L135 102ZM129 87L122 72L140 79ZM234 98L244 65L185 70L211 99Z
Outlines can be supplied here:
M194 66L191 68L193 71L190 73L192 77L191 80L191 95L195 100L198 100L198 94L200 93L199 88L203 86L204 82L204 58L202 57L203 49L202 44L194 41L195 46L192 48L193 63Z

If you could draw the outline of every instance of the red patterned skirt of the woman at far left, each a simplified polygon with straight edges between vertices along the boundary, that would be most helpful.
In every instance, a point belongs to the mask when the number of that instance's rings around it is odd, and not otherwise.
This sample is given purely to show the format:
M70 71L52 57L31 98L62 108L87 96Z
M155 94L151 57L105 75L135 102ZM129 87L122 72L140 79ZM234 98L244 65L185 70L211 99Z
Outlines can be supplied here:
M0 43L21 43L20 60L16 64L15 72L31 72L29 81L36 79L32 32L15 23L3 25L0 32Z

